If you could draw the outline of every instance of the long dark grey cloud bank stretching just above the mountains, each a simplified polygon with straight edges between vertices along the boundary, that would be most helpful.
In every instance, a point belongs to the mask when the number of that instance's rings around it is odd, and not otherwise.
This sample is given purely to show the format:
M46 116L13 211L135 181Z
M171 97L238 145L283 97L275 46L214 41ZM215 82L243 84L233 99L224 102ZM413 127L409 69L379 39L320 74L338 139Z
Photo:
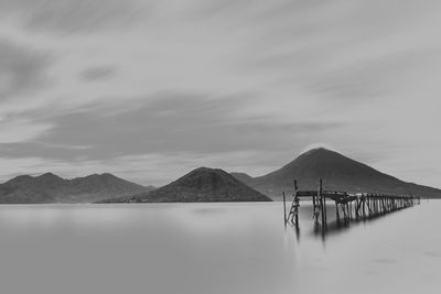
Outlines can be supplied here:
M89 107L52 117L54 126L33 142L3 145L6 156L30 154L47 159L109 160L148 153L213 154L291 149L341 122L282 122L270 117L244 117L251 98L206 98L197 95L162 95L139 99L119 111ZM295 143L295 141L299 143ZM74 149L65 146L87 146Z

